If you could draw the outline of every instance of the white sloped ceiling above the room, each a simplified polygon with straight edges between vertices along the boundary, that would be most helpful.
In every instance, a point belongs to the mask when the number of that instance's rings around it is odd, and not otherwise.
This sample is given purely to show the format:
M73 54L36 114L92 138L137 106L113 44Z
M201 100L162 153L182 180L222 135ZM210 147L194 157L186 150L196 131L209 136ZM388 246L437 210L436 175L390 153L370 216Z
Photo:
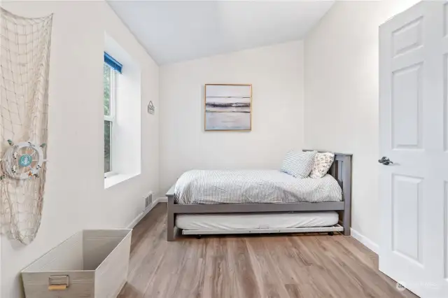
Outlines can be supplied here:
M332 3L109 0L160 65L301 39Z

